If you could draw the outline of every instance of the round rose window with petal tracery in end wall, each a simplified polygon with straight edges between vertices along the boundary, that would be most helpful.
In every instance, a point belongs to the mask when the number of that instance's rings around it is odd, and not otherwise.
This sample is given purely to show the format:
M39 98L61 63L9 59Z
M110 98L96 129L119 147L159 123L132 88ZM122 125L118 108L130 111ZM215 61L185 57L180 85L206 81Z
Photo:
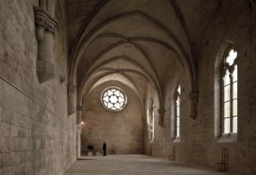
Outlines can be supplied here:
M109 111L120 111L126 105L127 97L120 88L106 88L101 93L101 103Z

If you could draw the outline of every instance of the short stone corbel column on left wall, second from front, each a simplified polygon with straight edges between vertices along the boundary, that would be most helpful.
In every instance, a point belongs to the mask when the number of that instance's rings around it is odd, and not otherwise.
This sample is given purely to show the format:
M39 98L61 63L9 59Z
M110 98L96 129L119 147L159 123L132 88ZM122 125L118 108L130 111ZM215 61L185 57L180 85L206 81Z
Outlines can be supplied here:
M77 86L73 84L68 84L68 115L73 115L76 111L75 109L75 95Z

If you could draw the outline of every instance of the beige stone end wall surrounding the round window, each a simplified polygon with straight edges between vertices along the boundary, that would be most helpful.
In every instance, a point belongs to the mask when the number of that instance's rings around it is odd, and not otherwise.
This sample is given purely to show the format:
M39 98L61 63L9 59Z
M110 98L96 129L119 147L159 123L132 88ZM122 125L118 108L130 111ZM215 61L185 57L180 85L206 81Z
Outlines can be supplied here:
M108 111L100 102L104 88L116 86L128 96L128 103L121 111ZM86 146L92 143L94 153L102 154L102 143L107 144L107 154L115 145L116 154L143 154L144 130L140 101L136 94L124 84L116 81L101 84L95 88L88 99L83 100L82 153L87 153Z

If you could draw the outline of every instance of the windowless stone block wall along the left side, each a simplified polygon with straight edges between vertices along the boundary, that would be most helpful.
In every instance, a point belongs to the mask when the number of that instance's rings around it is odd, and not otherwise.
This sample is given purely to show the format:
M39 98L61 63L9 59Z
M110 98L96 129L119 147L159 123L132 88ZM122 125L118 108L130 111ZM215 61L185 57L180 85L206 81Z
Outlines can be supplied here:
M57 2L60 29L54 39L56 78L37 80L33 6L0 3L0 174L62 174L76 159L76 119L67 116L67 24Z

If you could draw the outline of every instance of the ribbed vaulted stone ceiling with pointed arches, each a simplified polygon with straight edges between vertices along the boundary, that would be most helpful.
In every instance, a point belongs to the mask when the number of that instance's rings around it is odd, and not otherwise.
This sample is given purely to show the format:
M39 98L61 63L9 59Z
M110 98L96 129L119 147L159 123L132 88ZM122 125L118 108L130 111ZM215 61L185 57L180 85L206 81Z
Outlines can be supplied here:
M196 91L203 37L219 0L67 0L69 82L80 95L120 81L141 101L152 84L161 99L171 63L179 60Z

